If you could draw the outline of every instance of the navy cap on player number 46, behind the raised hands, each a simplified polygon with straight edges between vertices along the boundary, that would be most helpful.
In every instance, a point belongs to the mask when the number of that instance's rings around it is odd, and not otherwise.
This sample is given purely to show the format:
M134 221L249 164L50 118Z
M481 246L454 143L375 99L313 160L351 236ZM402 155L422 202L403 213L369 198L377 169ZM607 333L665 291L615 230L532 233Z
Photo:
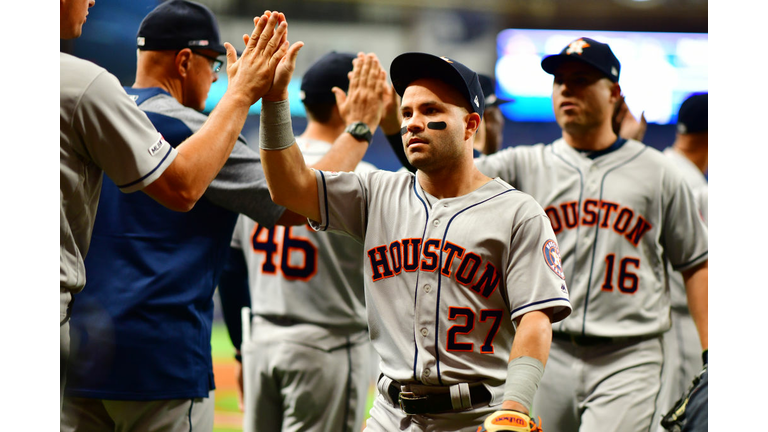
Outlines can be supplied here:
M320 57L307 69L301 78L301 101L305 104L336 102L336 95L331 91L338 87L345 92L349 89L349 76L352 60L357 55L331 51Z

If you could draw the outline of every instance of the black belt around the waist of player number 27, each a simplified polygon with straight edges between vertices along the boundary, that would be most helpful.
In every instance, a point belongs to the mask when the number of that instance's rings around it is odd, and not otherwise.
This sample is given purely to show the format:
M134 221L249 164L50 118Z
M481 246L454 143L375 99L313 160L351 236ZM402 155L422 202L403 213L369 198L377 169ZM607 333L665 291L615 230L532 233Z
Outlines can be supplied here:
M456 411L451 402L451 393L446 387L445 393L415 395L411 392L401 392L400 385L392 381L387 389L393 403L400 403L400 408L406 414L439 414ZM469 397L472 406L488 405L491 402L491 392L482 384L469 386Z

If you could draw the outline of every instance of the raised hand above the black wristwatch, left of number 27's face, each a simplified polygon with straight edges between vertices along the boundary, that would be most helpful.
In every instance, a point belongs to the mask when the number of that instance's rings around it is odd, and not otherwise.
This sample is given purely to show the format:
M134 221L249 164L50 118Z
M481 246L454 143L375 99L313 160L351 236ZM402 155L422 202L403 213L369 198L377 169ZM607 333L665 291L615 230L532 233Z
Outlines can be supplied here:
M338 87L333 88L336 104L347 124L362 121L373 132L379 125L384 111L388 87L387 73L373 53L359 53L352 64L349 91L344 93Z

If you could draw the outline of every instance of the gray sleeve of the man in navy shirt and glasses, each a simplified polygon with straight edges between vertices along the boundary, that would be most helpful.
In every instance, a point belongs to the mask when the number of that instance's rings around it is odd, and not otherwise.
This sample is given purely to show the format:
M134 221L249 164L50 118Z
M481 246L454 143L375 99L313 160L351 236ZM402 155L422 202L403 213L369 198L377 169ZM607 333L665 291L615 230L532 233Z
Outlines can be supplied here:
M271 228L285 211L272 202L259 154L241 138L229 159L205 191L214 204L247 215L260 225Z

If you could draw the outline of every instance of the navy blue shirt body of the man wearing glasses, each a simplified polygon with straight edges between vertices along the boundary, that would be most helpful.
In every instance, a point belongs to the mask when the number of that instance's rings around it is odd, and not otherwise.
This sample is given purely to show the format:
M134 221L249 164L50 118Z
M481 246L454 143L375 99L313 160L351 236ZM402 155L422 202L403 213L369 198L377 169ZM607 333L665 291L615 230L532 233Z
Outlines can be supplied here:
M205 120L189 109L192 120L186 122L147 111L142 104L158 96L160 106L185 109L161 89L126 91L174 147L192 135L190 125L197 129ZM260 166L251 166L257 163L242 166L256 170L260 181ZM250 186L268 197L263 187ZM207 397L214 389L213 293L237 213L207 197L180 213L144 193L122 193L104 177L85 259L86 286L72 308L67 396L181 399ZM262 218L273 224L282 209L271 201L263 205L271 213Z

